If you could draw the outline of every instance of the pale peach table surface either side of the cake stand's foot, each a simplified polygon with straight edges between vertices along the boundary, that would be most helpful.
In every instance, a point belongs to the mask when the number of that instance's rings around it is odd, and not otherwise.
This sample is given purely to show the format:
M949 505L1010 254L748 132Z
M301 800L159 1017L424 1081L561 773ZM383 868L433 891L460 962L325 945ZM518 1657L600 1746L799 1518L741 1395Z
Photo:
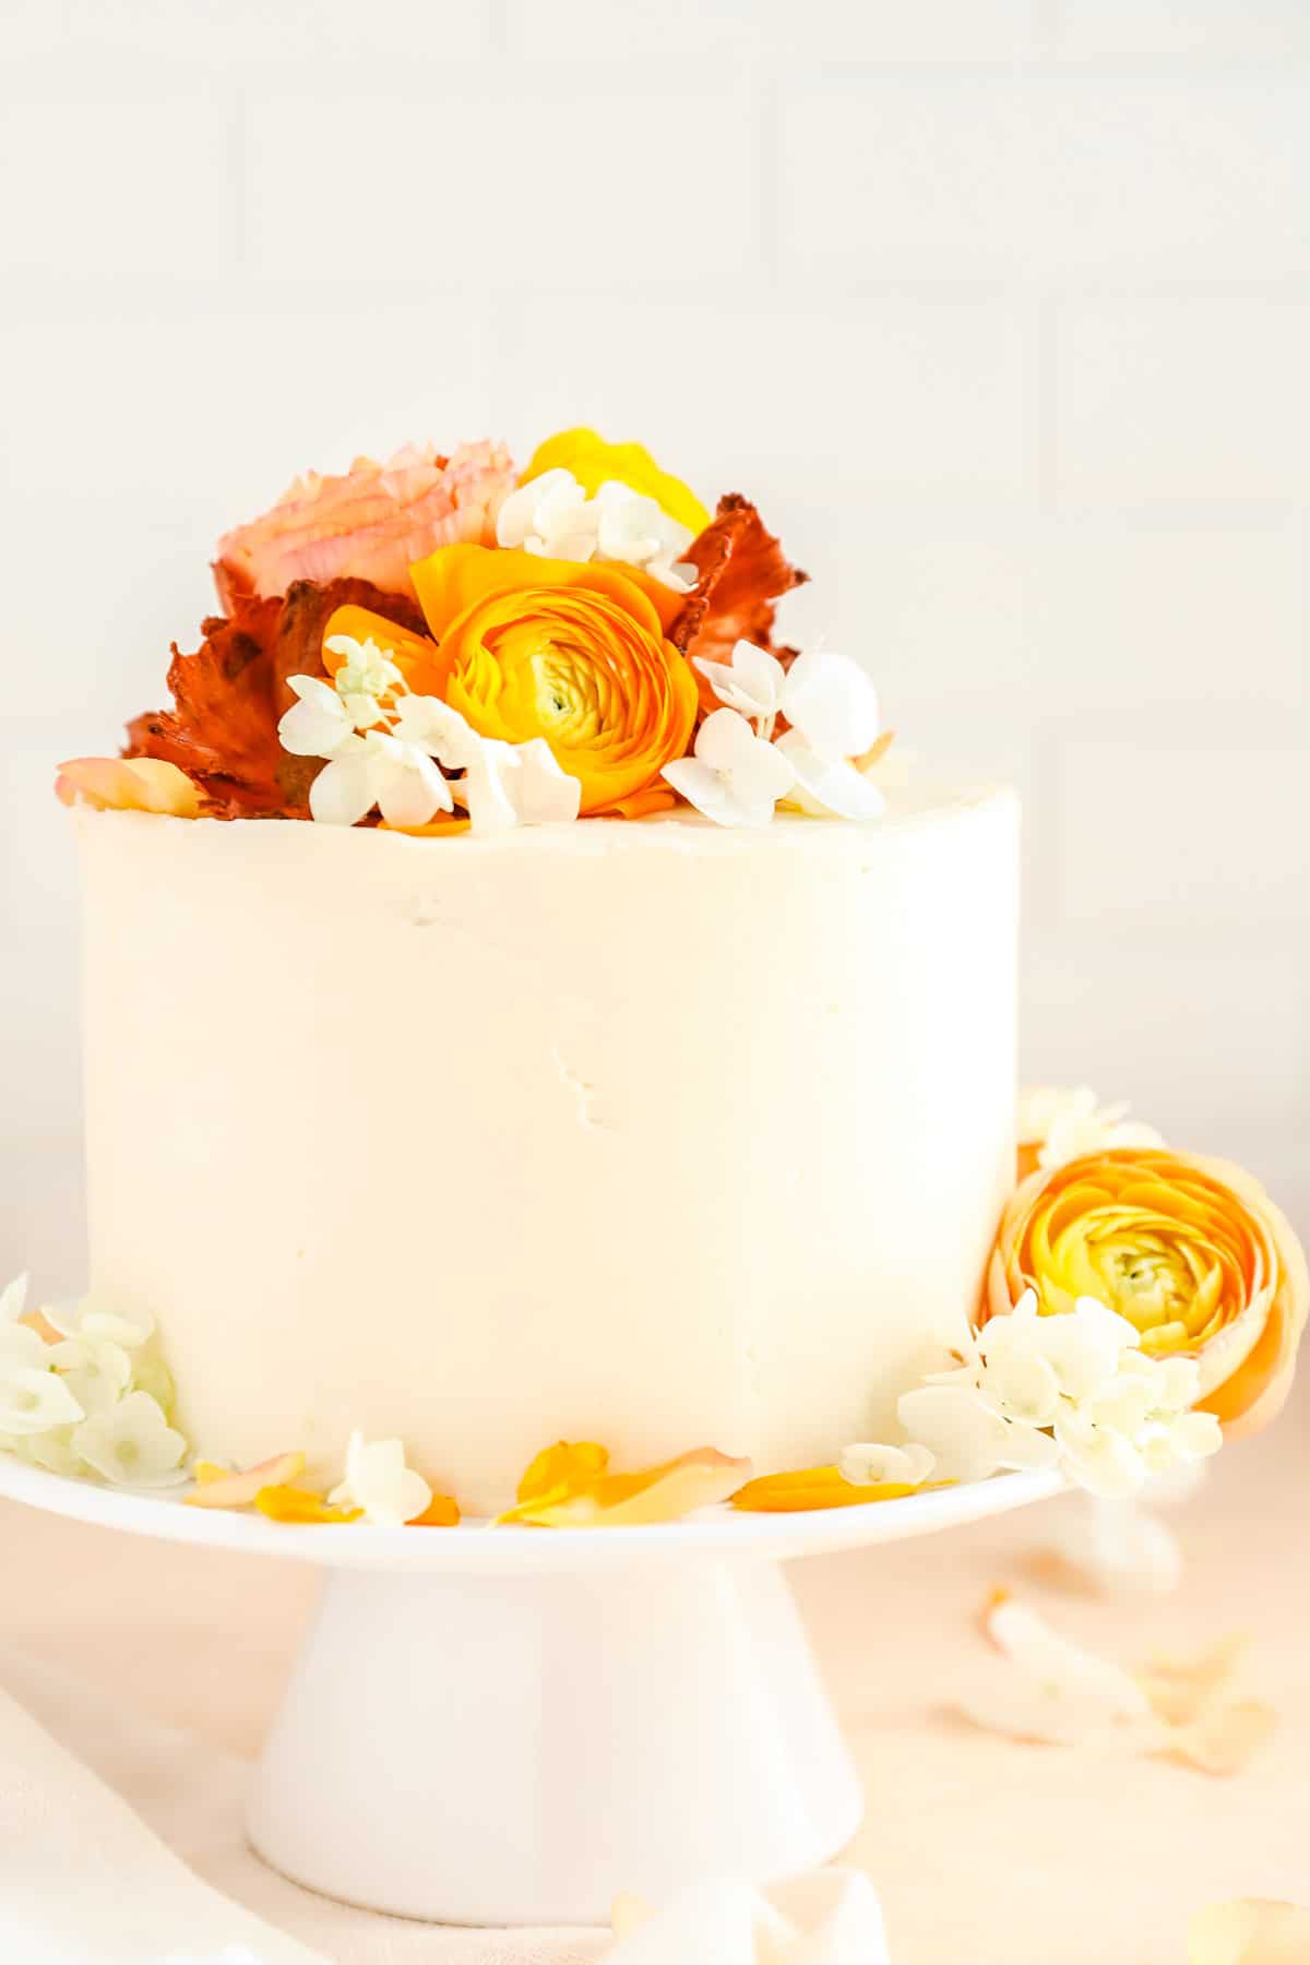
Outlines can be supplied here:
M1224 1896L1310 1902L1310 1387L1226 1448L1174 1517L1182 1588L1106 1603L1027 1582L1066 1501L919 1543L797 1562L797 1596L868 1786L850 1861L874 1877L894 1965L1171 1965ZM0 1505L0 1643L255 1755L316 1578ZM1255 1635L1277 1737L1237 1778L992 1739L945 1710L986 1668L996 1582L1123 1662ZM71 1853L73 1855L73 1853Z

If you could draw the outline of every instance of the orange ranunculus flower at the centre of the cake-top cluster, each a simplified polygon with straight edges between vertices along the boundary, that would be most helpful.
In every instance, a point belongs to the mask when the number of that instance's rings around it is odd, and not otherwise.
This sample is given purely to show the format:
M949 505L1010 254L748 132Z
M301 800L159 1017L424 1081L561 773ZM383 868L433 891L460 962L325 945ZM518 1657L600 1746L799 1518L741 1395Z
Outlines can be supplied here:
M438 643L434 694L481 737L544 737L581 782L581 812L613 812L683 757L697 688L648 588L613 566L513 548L442 546L410 568ZM678 605L678 595L668 595Z

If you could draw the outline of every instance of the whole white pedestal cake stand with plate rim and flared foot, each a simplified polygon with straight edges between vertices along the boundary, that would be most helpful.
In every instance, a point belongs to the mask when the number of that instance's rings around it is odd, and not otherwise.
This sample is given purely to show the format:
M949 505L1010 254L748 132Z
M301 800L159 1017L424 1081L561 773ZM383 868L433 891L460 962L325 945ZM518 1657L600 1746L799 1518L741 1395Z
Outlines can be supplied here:
M448 1924L603 1924L619 1890L764 1886L837 1855L860 1784L782 1564L1059 1488L646 1529L287 1527L0 1456L14 1501L324 1568L249 1839L310 1890Z

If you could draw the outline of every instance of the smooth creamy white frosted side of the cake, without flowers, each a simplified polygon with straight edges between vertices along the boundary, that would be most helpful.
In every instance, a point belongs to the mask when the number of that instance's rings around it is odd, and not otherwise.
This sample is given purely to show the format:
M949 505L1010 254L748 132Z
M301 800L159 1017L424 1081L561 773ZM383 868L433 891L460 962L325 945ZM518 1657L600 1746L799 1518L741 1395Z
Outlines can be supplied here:
M1017 804L409 839L75 814L92 1287L196 1450L894 1436L1013 1185Z

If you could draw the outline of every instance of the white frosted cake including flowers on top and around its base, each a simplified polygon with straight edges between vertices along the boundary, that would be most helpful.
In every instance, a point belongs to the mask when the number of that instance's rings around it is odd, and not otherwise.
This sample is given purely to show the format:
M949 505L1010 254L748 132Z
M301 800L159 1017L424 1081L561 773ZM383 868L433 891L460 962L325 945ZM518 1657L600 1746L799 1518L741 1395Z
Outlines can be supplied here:
M59 774L90 1293L8 1299L0 1442L650 1521L1127 1491L1277 1409L1296 1238L1092 1095L1015 1124L1017 802L892 772L864 668L774 639L799 578L587 430L220 542L173 707Z

